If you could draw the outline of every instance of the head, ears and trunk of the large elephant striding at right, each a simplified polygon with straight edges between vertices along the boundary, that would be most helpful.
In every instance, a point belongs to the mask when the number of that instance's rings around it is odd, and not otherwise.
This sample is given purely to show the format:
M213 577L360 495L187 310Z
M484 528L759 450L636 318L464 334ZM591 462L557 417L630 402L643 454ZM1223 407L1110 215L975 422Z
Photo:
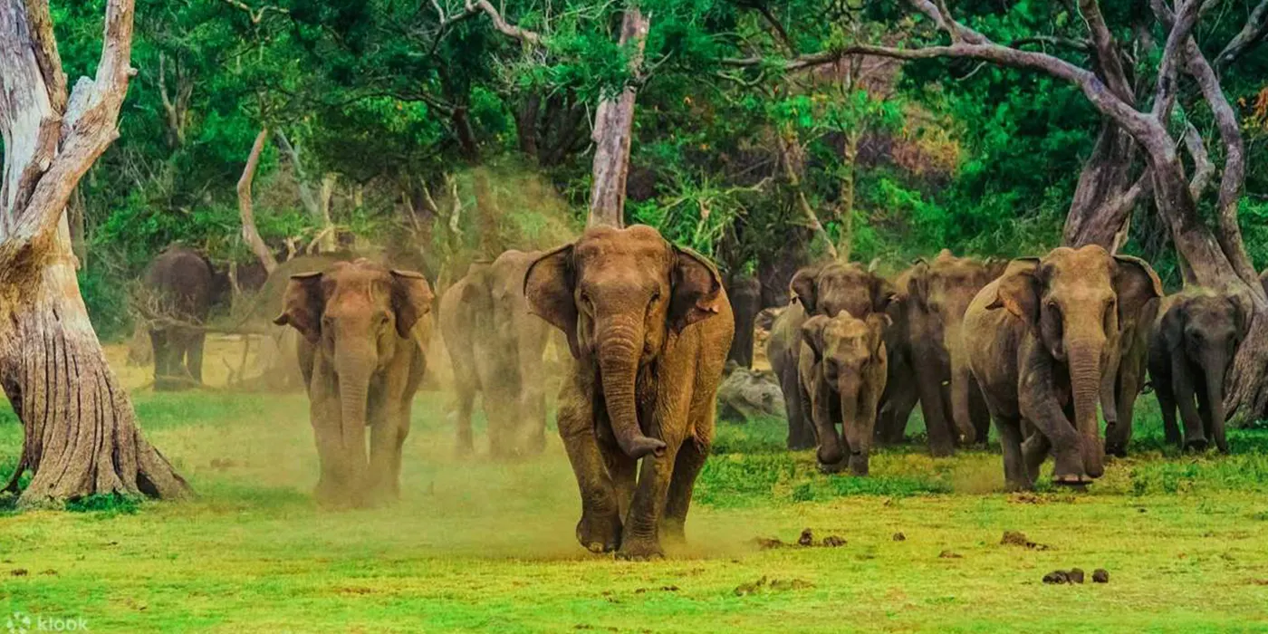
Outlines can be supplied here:
M1161 284L1148 265L1088 245L1013 260L988 307L1003 307L1022 320L1045 353L1068 370L1071 422L1082 436L1084 470L1093 478L1104 473L1097 403L1104 398L1106 384L1113 391L1120 309L1156 297L1161 297Z

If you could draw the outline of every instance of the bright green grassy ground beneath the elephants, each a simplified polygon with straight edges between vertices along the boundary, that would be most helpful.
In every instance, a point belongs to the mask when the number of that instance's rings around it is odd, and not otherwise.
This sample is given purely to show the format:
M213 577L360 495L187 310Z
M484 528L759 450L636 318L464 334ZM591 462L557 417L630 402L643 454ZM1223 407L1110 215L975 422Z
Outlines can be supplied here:
M1268 631L1263 431L1235 432L1231 456L1179 456L1146 424L1144 450L1088 492L1006 495L998 454L886 450L871 478L824 477L782 450L777 421L724 426L690 543L626 563L573 540L557 439L534 462L456 462L437 393L418 399L402 502L341 514L309 500L302 396L141 391L136 406L199 498L0 514L0 626L18 611L91 631ZM0 477L19 443L0 413ZM847 543L753 543L805 527ZM1006 530L1047 548L1003 545ZM1073 567L1110 583L1040 581Z

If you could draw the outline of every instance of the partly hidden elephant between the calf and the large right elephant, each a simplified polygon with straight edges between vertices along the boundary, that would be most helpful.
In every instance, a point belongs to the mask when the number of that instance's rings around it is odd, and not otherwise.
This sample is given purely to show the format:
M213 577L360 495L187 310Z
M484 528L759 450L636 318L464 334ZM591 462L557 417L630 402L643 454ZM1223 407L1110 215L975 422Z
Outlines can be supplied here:
M933 455L950 455L959 440L985 443L990 412L969 372L960 336L969 302L1007 261L956 257L943 249L907 271L908 341L921 412Z

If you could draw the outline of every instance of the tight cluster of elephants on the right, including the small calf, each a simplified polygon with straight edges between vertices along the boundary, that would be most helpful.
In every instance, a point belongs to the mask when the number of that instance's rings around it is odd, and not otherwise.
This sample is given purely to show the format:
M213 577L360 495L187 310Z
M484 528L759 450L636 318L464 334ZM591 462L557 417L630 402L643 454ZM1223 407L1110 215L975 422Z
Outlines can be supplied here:
M824 472L866 474L872 443L902 440L919 403L933 455L984 444L993 420L1011 489L1032 487L1047 456L1054 482L1087 484L1107 453L1126 455L1146 370L1167 440L1227 451L1224 382L1248 303L1201 288L1164 297L1140 259L1099 246L1012 261L943 250L894 279L810 266L791 294L767 356L789 448L817 448Z

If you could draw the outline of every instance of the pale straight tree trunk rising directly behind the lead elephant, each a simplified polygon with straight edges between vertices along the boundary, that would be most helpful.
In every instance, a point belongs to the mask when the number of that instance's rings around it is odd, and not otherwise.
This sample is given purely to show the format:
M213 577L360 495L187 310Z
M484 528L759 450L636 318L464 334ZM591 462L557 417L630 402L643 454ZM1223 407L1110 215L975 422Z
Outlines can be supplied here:
M643 47L650 18L635 6L625 9L621 19L621 46L633 46L630 71L635 76L643 66ZM604 99L595 112L595 164L590 190L591 227L625 226L625 179L629 175L630 137L634 132L634 86Z

